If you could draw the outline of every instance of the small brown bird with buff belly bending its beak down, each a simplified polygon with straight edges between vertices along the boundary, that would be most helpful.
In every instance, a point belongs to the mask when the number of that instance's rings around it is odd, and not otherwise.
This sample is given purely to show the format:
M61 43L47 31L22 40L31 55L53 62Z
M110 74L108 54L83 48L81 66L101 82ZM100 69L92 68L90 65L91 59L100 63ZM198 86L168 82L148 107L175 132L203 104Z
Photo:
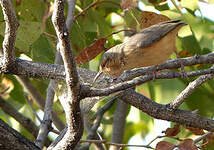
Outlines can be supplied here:
M161 22L131 36L102 56L100 71L94 81L105 73L119 77L124 70L158 65L169 59L176 51L176 37L179 29L186 25L180 20Z

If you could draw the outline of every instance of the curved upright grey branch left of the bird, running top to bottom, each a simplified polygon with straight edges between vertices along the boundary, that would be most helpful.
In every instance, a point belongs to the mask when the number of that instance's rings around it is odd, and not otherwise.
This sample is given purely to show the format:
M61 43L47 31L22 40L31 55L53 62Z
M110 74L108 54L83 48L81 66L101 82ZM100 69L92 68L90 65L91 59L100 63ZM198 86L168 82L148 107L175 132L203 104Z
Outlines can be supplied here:
M73 4L75 5L75 2ZM55 0L52 22L56 30L60 53L64 62L68 91L66 101L60 101L65 110L68 129L63 139L53 149L73 149L82 136L83 123L80 112L80 84L65 23L64 0ZM52 148L49 147L49 149Z

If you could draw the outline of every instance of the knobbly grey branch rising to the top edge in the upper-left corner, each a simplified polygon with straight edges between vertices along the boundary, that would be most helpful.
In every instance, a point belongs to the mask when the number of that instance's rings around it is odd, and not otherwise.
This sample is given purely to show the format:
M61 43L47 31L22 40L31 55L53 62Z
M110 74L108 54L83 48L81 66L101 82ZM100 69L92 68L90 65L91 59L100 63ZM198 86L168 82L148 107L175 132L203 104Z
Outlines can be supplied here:
M0 0L2 7L4 20L5 20L5 36L3 41L3 52L4 52L4 67L8 67L15 60L15 40L16 31L19 26L16 18L16 13L10 0ZM5 69L6 69L5 68Z

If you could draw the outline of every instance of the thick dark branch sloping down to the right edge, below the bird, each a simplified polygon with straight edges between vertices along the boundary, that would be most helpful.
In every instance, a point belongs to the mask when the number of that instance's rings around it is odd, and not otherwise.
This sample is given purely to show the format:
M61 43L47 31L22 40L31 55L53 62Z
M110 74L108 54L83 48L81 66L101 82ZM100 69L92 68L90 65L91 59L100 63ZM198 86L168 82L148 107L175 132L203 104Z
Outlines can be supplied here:
M170 109L168 105L158 104L136 93L134 90L127 89L123 93L120 93L118 98L156 119L168 120L185 126L214 131L214 120L201 117L191 111Z

